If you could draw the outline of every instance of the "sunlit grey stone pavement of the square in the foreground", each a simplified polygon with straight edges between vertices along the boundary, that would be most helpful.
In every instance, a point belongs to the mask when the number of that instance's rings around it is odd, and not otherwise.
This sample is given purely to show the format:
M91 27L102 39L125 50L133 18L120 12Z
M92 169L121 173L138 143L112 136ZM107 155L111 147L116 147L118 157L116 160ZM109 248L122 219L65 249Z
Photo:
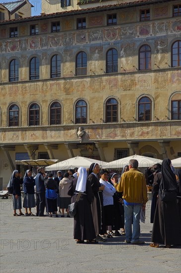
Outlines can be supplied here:
M124 236L78 245L73 218L13 217L12 200L1 199L0 273L180 273L180 247L149 247L150 205L141 223L145 245L126 244Z

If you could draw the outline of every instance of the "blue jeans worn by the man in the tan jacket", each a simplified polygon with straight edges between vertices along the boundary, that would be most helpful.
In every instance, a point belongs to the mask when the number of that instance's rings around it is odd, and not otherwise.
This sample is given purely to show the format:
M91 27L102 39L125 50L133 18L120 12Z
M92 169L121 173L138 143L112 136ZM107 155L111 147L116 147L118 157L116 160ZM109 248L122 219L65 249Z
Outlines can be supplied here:
M140 212L141 205L125 205L124 204L124 218L125 218L125 238L132 243L139 241L140 236ZM133 225L133 231L132 231Z

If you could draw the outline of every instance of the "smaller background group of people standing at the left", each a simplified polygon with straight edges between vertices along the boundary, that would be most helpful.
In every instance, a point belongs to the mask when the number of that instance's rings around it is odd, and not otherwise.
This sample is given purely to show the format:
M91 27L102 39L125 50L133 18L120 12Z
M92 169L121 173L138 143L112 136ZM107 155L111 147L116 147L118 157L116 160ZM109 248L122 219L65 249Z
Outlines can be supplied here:
M71 182L69 178L71 178L71 175L68 172L64 173L62 177L62 174L59 171L57 177L53 179L52 173L47 175L45 174L44 167L40 167L35 177L32 176L31 170L27 170L23 179L21 173L18 170L14 170L9 181L13 188L13 215L34 215L31 209L36 206L36 216L45 216L44 210L46 207L46 211L50 217L52 217L53 213L55 213L56 217L58 217L59 206L59 212L60 208L62 210L61 217L64 217L64 209L68 208L68 204L70 204L71 199L71 197L67 195ZM25 214L21 211L21 185L24 191L23 207L25 208ZM48 196L47 193L51 193L51 196ZM19 214L16 213L17 209L19 209ZM69 217L68 209L67 217Z

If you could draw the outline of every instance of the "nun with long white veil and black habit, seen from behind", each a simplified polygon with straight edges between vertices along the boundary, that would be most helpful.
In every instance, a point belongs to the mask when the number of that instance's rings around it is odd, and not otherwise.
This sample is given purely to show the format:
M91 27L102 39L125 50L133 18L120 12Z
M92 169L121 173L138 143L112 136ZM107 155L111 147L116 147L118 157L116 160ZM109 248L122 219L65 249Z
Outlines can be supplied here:
M84 240L87 240L87 244L96 244L97 241L94 240L96 233L91 212L93 195L91 183L87 180L86 168L79 167L77 177L77 179L74 178L71 181L68 190L68 195L72 197L72 203L76 201L78 193L81 193L77 213L74 216L73 237L76 239L77 244L84 243Z

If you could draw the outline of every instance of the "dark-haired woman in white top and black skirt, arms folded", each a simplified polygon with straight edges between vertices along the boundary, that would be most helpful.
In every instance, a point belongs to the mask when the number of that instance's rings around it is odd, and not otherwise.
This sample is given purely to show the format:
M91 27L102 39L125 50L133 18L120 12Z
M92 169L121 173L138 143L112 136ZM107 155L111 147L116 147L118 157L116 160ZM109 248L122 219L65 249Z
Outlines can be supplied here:
M113 185L111 185L108 182L108 176L109 172L105 169L100 170L100 180L99 182L101 185L104 185L104 191L103 191L103 206L104 206L104 214L105 214L105 224L106 224L106 230L108 230L108 233L105 234L107 238L112 238L113 231L112 231L112 225L113 225L113 209L114 209L114 200L113 196L116 193L116 189Z

